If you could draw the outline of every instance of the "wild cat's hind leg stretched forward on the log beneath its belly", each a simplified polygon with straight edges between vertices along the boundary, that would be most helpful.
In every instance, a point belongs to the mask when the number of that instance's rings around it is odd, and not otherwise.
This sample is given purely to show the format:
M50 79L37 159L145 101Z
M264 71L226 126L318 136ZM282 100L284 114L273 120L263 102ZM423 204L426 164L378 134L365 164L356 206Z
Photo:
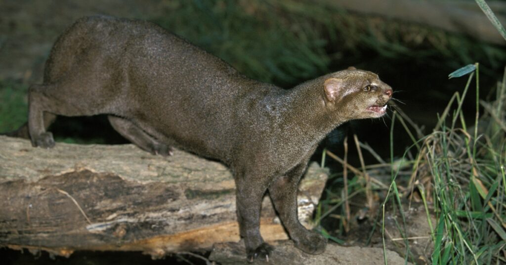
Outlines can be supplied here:
M112 127L119 132L119 134L141 149L153 155L172 156L171 147L157 141L133 122L112 115L109 115L107 118L109 118Z

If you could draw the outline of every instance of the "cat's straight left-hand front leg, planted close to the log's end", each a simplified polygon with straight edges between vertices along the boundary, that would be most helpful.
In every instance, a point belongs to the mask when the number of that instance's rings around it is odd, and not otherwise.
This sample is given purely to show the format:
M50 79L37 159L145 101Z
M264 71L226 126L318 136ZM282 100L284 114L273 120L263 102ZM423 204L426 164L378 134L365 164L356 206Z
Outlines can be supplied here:
M237 187L236 208L239 232L244 238L248 262L256 258L269 261L273 248L260 235L260 211L262 198L267 191L270 179L253 174L235 178Z

